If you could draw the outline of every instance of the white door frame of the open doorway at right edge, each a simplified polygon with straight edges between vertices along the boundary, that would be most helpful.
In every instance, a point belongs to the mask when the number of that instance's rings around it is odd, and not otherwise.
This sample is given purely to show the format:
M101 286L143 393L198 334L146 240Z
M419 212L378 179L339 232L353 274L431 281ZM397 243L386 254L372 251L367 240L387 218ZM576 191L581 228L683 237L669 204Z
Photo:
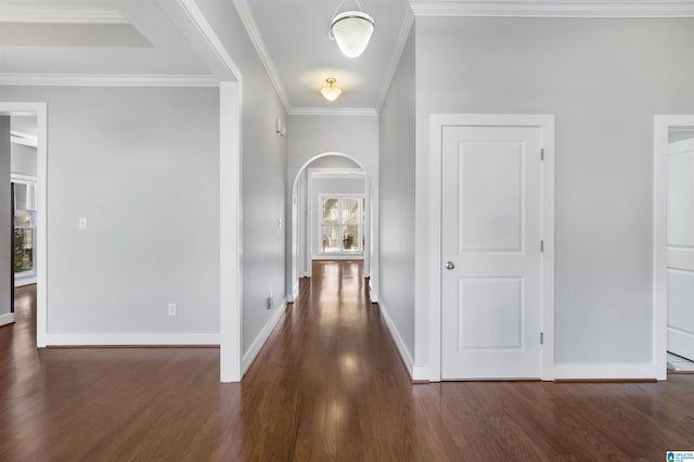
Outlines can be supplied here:
M656 378L667 380L668 292L667 208L668 132L694 127L694 115L656 115L653 137L653 363Z

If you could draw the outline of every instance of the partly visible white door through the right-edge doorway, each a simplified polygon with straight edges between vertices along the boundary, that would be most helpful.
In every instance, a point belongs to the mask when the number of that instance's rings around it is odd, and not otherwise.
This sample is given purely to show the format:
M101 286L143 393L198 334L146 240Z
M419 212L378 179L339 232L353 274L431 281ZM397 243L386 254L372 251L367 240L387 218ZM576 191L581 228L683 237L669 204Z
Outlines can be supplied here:
M668 152L668 351L694 360L694 140Z

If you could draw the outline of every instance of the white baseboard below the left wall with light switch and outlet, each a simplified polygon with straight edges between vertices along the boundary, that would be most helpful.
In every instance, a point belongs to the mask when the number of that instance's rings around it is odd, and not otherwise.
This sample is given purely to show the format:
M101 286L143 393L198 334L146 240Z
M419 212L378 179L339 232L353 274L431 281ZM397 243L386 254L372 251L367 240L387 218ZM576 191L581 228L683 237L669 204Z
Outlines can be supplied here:
M46 334L47 346L219 345L218 333Z

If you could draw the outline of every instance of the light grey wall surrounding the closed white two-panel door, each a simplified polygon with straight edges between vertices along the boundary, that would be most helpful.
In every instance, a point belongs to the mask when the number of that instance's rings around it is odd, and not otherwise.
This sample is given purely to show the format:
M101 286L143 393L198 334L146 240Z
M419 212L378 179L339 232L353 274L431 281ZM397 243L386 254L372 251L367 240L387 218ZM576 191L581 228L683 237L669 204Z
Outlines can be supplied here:
M694 113L692 42L694 20L416 18L417 216L429 114L556 115L557 364L653 361L653 116Z

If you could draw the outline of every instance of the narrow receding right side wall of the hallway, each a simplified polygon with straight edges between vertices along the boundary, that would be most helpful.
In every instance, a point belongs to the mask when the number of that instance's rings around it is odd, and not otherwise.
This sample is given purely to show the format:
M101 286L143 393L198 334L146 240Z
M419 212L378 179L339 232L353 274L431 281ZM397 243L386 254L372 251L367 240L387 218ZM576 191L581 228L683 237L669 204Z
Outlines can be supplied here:
M414 30L381 108L380 305L410 372L414 367ZM423 360L426 364L428 358Z

